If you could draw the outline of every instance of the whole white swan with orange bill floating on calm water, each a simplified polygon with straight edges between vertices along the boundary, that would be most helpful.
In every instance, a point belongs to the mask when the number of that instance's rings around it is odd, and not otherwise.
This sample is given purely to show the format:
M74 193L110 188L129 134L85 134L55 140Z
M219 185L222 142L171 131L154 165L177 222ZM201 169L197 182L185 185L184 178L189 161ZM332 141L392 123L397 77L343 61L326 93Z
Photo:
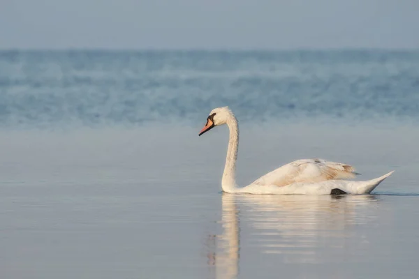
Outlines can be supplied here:
M368 181L350 181L356 176L351 165L323 159L302 159L288 163L261 176L249 186L239 188L235 181L237 151L239 149L239 125L228 107L217 107L210 112L207 123L199 136L215 126L227 124L230 130L226 165L221 188L226 193L270 195L338 195L369 194L394 171Z

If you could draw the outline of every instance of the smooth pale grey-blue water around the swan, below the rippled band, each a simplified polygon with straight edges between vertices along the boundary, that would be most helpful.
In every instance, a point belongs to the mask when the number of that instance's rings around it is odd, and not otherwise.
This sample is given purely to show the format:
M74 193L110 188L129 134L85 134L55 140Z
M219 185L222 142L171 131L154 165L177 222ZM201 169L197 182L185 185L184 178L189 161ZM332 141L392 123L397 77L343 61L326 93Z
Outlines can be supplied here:
M221 194L227 130L198 130L1 133L2 277L415 278L413 128L243 125L242 185L317 155L396 170L347 197Z

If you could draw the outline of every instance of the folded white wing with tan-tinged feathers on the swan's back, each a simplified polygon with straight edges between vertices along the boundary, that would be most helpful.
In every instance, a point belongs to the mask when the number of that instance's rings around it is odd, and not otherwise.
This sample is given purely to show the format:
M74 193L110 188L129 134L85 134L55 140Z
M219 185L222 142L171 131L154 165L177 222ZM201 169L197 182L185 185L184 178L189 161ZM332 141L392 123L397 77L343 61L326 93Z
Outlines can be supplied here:
M304 159L283 165L252 184L287 186L296 182L316 183L330 179L351 179L356 174L351 165L322 159Z

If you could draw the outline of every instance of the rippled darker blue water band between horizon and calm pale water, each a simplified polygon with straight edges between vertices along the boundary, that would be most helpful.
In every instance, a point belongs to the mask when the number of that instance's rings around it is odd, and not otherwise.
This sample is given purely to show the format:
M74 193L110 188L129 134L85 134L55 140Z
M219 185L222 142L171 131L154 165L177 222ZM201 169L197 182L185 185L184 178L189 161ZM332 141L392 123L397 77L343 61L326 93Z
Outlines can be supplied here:
M0 125L395 121L419 116L419 51L1 51Z

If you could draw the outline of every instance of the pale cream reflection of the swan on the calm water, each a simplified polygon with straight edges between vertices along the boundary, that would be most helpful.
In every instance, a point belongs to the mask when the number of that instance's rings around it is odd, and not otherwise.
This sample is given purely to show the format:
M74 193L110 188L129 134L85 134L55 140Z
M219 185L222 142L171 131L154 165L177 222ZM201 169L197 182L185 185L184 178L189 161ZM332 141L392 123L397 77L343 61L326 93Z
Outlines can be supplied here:
M368 248L369 237L356 228L374 222L378 201L374 195L223 193L221 234L209 238L208 264L215 278L235 278L243 255L275 257L274 268L345 262Z

